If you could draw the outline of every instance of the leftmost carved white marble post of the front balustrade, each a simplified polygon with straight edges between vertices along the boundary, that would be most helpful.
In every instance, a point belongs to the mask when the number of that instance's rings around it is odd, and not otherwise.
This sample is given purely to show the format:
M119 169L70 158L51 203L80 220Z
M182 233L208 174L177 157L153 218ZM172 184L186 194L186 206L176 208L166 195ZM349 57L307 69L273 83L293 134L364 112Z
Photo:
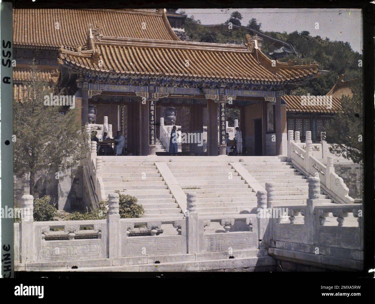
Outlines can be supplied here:
M34 198L32 195L22 196L21 212L21 263L33 262L34 232ZM39 236L38 236L39 237ZM40 237L42 237L40 235ZM35 241L38 241L37 239Z

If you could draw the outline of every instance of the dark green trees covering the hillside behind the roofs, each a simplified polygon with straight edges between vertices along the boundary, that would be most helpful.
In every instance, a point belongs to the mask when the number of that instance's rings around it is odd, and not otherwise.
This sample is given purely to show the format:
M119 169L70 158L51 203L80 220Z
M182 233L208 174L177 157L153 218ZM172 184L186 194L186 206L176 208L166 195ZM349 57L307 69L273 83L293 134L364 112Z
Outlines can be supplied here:
M250 25L248 24L248 26ZM243 43L245 35L249 33L245 28L229 30L225 26L204 27L191 18L186 18L184 27L190 40L196 42L232 43L235 41ZM305 89L311 95L317 96L328 93L341 74L345 75L345 79L362 79L362 67L358 66L359 60L363 59L362 55L353 51L348 42L330 41L327 37L324 39L320 36L313 37L308 31L300 33L298 31L292 33L285 31L264 33L275 39L287 41L296 49L297 56L289 54L278 58L279 61L288 62L291 59L296 60L297 64L305 64L306 61L316 61L318 69L329 71L328 73L321 73L316 79L307 80L298 85L298 87ZM270 39L263 39L261 51L267 56L269 56L269 52L278 48L280 48L280 45L275 45L275 42ZM290 87L286 94L290 94L290 91L296 88Z

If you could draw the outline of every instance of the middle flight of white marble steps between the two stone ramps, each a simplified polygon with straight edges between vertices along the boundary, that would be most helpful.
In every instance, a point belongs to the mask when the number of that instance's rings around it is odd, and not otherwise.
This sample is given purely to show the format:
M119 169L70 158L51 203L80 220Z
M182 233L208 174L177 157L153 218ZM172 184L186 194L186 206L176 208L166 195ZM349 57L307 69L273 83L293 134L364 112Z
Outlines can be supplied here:
M249 184L227 161L176 158L167 163L184 192L195 192L199 214L239 214L256 207Z

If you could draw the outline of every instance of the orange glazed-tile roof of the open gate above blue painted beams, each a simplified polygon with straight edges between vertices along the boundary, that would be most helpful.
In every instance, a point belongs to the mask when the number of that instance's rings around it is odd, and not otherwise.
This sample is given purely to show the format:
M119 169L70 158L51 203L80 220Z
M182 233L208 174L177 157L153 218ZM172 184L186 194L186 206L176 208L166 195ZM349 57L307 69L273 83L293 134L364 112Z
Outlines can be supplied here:
M318 74L315 63L294 65L272 61L255 49L255 40L250 35L246 35L246 39L246 45L228 45L101 36L90 39L87 50L61 48L58 61L98 73L243 79L268 83L300 81Z

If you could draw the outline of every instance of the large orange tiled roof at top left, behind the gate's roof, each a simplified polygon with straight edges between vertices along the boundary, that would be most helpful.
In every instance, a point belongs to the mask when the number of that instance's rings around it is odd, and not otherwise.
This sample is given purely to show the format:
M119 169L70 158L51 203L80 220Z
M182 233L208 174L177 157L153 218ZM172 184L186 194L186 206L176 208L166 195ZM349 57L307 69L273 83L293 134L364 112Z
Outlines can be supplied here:
M83 46L89 24L102 24L105 36L179 40L160 9L14 9L13 41L18 46Z

